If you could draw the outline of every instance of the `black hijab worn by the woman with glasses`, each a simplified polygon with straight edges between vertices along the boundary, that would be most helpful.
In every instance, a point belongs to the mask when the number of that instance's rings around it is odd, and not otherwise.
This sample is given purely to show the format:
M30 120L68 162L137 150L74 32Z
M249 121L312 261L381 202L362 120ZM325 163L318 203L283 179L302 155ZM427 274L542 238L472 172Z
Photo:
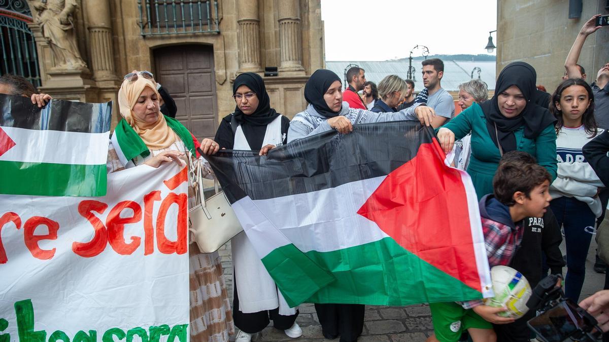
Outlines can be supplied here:
M233 94L242 85L248 86L248 88L256 93L256 96L258 97L258 108L256 108L254 113L245 115L239 109L239 106L235 106L234 119L237 120L239 124L266 126L275 120L275 117L281 115L273 108L270 108L269 94L266 92L264 80L262 80L260 75L255 74L254 72L245 72L244 74L238 75L237 78L234 79Z

